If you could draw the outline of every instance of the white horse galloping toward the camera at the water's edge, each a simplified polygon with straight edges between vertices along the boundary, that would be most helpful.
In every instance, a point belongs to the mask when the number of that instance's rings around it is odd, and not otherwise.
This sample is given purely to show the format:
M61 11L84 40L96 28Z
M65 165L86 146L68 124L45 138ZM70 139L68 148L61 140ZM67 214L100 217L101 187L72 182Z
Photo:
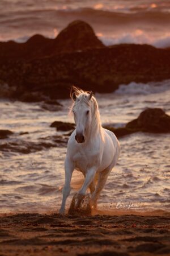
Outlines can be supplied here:
M107 181L107 177L116 165L120 154L120 144L116 136L101 126L97 101L92 92L84 92L74 87L71 95L76 129L67 144L65 158L65 185L59 213L64 214L66 199L70 195L70 181L74 169L83 173L85 179L76 195L76 207L91 192L91 205L96 208L97 199ZM98 180L95 186L95 175Z

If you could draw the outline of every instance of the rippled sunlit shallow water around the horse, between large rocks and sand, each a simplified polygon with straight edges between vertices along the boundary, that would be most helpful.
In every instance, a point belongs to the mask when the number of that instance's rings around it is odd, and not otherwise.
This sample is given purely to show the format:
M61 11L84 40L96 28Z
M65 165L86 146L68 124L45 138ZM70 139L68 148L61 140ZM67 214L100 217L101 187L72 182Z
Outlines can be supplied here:
M147 85L131 83L121 85L115 93L96 94L102 122L115 127L124 126L147 107L162 108L170 114L169 96L170 81ZM1 213L58 210L67 132L57 132L49 126L56 120L73 122L73 116L68 115L71 101L59 102L63 107L58 112L49 112L41 108L41 102L0 101L0 129L14 131L10 138L0 141L0 147L5 144L5 149L0 151ZM20 135L22 132L28 133ZM56 135L61 142L53 140ZM44 142L52 146L47 147ZM36 148L32 146L34 143ZM169 143L169 134L135 133L121 138L120 159L101 193L99 208L169 210ZM9 144L12 144L11 150L7 147ZM19 150L28 146L29 154ZM82 175L75 171L66 208L82 182Z

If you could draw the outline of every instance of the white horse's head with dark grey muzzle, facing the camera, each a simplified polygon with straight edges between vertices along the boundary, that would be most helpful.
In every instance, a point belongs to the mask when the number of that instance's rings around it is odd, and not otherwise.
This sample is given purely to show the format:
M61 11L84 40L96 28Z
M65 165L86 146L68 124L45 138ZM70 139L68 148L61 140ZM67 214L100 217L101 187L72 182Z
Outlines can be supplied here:
M76 95L75 92L72 94L74 101L73 113L76 124L76 135L75 139L78 143L83 143L86 140L86 133L88 127L91 125L92 113L90 100L92 98L92 92L90 93L79 93Z

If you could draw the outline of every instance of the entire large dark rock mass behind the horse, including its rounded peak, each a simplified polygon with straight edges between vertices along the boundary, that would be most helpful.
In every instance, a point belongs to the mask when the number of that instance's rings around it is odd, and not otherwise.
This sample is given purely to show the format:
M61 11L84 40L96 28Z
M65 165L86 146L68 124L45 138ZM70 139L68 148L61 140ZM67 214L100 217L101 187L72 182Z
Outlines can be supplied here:
M85 22L56 39L35 35L26 43L0 43L0 96L35 101L68 98L70 86L113 92L120 84L170 79L170 49L120 44L105 47Z

